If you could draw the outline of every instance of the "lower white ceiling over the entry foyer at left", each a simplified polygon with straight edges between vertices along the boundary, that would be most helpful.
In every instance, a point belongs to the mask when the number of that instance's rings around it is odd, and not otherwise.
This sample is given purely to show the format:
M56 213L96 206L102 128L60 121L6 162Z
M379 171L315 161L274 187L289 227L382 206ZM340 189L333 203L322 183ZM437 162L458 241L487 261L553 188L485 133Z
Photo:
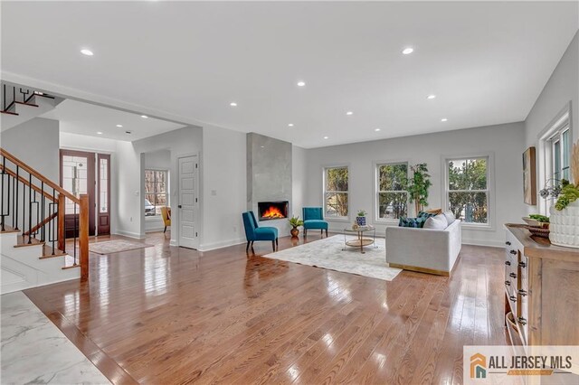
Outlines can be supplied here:
M62 101L42 117L60 120L60 129L63 132L124 141L134 141L184 127L153 117L144 118L138 114L71 99ZM127 131L130 134L127 134Z

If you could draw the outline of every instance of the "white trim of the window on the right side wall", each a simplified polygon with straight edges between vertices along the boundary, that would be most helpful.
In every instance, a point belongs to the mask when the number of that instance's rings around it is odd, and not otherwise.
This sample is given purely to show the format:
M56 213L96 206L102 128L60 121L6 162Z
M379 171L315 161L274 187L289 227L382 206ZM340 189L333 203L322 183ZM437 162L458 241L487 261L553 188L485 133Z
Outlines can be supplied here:
M557 134L557 132L562 132L566 127L569 127L569 144L573 146L574 135L573 135L573 119L571 116L571 102L565 104L565 108L561 109L559 113L549 122L548 125L539 133L538 139L538 159L537 162L537 178L536 178L536 191L540 191L545 187L545 183L548 179L552 178L553 172L553 155L551 139ZM575 183L577 181L574 181ZM549 206L551 200L543 199L540 196L537 197L537 211L543 215L549 215Z

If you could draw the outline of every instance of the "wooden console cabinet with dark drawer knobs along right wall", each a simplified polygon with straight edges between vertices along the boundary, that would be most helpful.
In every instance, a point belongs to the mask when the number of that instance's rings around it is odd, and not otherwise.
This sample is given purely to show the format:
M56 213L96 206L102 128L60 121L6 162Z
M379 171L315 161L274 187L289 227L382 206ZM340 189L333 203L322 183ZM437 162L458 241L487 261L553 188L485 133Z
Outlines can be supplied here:
M505 310L524 345L579 345L579 249L507 224Z

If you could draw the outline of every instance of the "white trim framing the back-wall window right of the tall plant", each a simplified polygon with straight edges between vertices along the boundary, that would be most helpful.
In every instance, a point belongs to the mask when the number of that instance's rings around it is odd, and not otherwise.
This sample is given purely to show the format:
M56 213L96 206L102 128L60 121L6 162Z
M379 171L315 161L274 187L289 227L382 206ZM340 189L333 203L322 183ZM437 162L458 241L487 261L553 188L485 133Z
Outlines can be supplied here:
M451 160L461 160L461 159L473 159L473 158L487 158L487 191L488 191L488 221L487 223L466 223L461 222L461 226L465 230L495 230L495 210L497 207L495 200L495 153L466 153L460 155L443 155L441 156L441 167L442 167L442 185L441 185L441 196L442 196L442 207L443 211L449 210L449 169L448 162ZM460 190L452 190L460 192ZM477 190L470 190L470 192L476 192ZM481 190L484 192L484 190Z

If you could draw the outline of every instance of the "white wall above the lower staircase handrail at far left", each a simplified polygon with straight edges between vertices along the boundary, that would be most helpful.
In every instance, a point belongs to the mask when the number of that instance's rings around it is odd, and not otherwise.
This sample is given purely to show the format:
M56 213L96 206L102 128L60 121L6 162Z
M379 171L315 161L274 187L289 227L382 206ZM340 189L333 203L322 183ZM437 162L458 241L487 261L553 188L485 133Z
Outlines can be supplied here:
M52 182L60 183L58 136L58 120L34 117L2 132L0 146Z

